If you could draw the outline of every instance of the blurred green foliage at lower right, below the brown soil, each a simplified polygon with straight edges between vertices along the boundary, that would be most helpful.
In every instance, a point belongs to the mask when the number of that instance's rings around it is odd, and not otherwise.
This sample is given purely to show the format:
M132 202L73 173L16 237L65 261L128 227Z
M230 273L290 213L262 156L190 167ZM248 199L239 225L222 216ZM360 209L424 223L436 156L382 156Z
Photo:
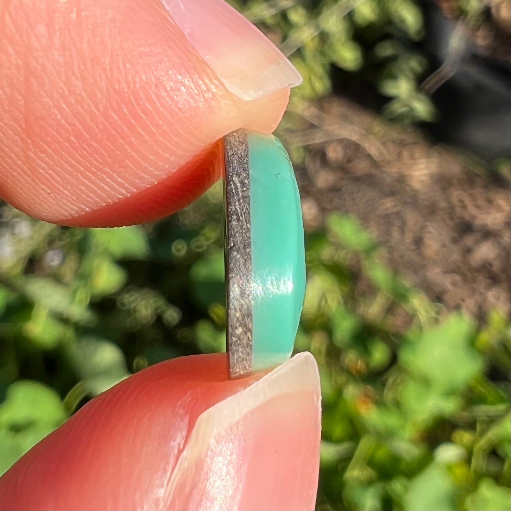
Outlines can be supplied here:
M318 508L507 509L507 318L477 327L434 306L350 217L332 215L307 260L297 346L323 385Z

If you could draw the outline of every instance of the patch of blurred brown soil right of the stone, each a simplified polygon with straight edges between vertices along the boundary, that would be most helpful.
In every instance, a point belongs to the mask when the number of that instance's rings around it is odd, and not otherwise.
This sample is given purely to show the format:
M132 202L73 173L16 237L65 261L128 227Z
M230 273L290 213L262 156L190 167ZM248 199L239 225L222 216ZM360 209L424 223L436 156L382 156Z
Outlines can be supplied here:
M307 230L331 211L355 215L390 265L432 300L476 318L495 308L509 314L506 177L343 99L300 117L309 129L285 138L310 149L296 169Z

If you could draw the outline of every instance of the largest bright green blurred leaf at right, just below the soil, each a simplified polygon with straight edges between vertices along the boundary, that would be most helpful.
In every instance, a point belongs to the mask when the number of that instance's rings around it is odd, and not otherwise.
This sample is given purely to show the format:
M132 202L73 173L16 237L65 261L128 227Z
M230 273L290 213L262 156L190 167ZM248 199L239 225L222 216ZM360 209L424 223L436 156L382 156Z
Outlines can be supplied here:
M403 346L400 363L410 374L429 382L433 394L461 391L483 368L482 357L472 345L473 337L472 323L452 315Z

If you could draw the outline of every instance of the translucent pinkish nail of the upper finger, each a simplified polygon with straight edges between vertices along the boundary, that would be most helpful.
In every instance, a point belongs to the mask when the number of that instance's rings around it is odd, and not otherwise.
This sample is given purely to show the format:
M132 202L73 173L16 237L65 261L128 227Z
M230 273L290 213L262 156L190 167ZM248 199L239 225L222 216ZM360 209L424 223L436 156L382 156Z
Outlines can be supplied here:
M223 0L161 0L197 53L243 100L301 83L269 39Z

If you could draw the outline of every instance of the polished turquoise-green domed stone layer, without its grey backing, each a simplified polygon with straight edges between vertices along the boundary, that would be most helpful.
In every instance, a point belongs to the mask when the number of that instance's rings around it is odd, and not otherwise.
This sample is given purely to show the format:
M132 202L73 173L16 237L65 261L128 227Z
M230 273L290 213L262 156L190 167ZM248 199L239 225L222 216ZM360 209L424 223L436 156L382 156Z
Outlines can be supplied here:
M248 132L252 251L252 370L293 350L305 295L304 224L289 156L272 135Z

